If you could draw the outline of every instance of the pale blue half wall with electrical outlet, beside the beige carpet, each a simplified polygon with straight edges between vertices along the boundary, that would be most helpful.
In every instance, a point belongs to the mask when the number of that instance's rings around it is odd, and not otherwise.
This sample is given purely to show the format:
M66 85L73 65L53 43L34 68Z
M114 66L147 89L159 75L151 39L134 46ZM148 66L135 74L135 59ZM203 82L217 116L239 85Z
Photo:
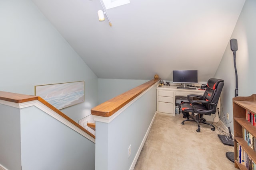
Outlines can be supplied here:
M96 170L128 170L156 113L156 86L110 123L96 121ZM128 147L131 156L128 158Z

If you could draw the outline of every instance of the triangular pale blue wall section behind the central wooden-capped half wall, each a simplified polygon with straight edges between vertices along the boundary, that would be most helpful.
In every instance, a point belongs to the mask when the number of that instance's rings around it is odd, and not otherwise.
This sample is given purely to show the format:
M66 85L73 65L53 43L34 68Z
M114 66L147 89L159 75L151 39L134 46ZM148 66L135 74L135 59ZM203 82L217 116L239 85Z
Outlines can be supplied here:
M99 104L106 102L148 80L98 79Z

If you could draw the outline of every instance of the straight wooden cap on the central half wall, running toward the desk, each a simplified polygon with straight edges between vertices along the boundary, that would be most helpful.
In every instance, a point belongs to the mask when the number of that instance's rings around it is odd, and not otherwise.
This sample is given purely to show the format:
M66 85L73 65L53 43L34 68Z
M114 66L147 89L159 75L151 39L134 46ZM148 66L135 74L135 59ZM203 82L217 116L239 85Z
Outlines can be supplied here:
M145 90L150 88L153 84L158 82L160 79L152 79L140 86L137 86L119 96L116 96L94 108L91 109L92 115L102 116L102 117L109 117L116 113L119 109L124 107L126 104L131 102L134 98L142 94Z

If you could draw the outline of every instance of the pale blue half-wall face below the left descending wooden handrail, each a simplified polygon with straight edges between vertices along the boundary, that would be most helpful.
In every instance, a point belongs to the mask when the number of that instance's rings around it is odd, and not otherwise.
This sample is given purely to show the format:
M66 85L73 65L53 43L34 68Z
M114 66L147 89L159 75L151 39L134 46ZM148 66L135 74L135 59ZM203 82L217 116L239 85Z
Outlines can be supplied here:
M95 144L35 106L20 111L24 170L94 170Z

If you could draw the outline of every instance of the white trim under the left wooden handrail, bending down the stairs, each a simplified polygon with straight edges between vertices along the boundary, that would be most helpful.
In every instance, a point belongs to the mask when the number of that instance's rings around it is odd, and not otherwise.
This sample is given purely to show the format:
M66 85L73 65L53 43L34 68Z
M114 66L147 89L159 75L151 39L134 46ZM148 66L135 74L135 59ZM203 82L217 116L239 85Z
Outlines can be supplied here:
M95 139L93 137L91 137L88 133L82 131L82 129L78 128L76 125L74 125L73 123L71 123L70 121L68 121L67 119L65 119L64 117L62 117L61 115L59 115L58 113L56 113L55 111L50 109L49 107L45 106L44 104L42 104L38 100L33 100L33 101L30 101L30 102L23 102L23 103L14 103L14 102L8 102L8 101L0 100L0 104L4 104L4 105L7 105L7 106L11 106L11 107L16 107L16 108L19 108L19 109L22 109L22 108L25 108L25 107L30 107L30 106L36 106L39 109L41 109L42 111L44 111L45 113L47 113L48 115L54 117L58 121L62 122L64 125L70 127L74 131L80 133L82 136L86 137L87 139L89 139L90 141L95 143Z

